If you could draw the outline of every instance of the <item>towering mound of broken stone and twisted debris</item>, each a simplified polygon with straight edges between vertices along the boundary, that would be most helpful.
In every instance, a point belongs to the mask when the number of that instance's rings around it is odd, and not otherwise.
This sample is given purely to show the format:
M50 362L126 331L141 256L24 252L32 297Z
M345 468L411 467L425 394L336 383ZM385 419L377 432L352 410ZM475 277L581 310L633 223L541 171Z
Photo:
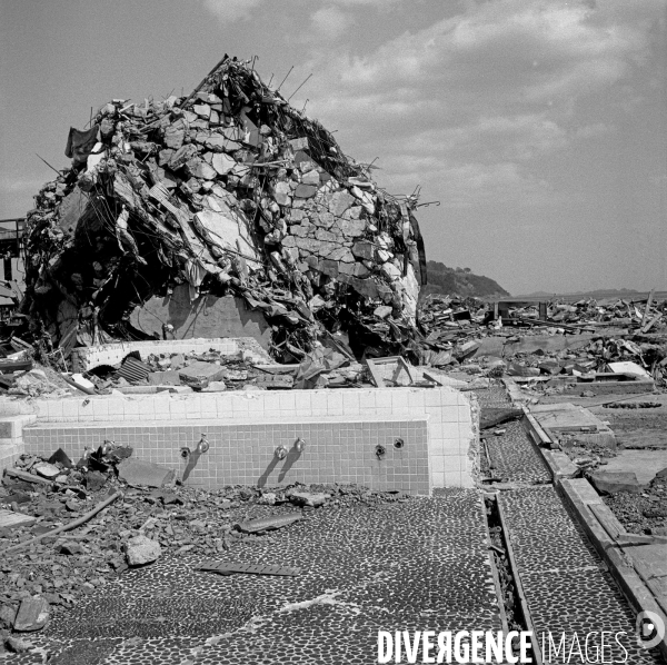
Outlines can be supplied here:
M338 330L410 351L417 197L379 189L249 61L226 56L188 97L112 100L66 155L27 220L21 311L47 351L136 337L131 311L181 284L260 310L279 360Z

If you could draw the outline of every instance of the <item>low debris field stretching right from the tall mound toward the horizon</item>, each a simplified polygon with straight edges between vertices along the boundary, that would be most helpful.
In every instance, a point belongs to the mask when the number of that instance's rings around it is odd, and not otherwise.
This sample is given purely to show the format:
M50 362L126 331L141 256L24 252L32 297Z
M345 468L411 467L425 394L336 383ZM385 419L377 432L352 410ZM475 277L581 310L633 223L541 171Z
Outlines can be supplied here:
M499 315L476 298L424 298L418 312L425 335L420 364L491 378L520 377L536 397L570 389L547 383L550 377L586 380L618 373L653 379L657 386L667 383L667 301L656 302L653 294L639 301L505 306Z

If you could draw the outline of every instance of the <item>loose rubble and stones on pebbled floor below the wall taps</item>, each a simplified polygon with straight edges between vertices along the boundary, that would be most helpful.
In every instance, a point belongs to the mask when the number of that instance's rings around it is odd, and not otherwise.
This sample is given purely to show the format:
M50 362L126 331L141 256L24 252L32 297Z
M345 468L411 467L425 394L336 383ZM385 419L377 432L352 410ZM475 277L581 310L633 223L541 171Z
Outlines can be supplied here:
M98 450L86 450L78 464L62 450L48 460L24 455L4 475L0 512L10 509L24 523L0 527L0 643L12 628L14 638L20 638L19 628L21 633L40 629L49 615L160 556L225 558L223 553L239 547L235 556L242 560L245 545L280 537L275 529L307 518L311 510L381 509L384 504L410 500L402 493L346 484L230 486L216 492L169 479L159 487L132 486L122 470L130 460L135 460L130 448L108 441ZM150 466L153 472L161 468ZM78 528L49 536L117 493L118 500ZM291 518L282 519L287 516ZM275 525L271 517L278 518ZM31 605L39 606L42 615L46 612L43 621L17 626L21 608Z

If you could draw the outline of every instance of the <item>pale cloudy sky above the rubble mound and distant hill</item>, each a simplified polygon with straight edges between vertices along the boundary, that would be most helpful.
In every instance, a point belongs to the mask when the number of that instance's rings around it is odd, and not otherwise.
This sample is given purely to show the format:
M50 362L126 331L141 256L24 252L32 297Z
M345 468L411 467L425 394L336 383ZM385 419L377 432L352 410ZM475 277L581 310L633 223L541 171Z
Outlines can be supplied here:
M379 185L421 187L427 256L512 294L667 289L665 0L0 0L0 218L112 98L227 52Z

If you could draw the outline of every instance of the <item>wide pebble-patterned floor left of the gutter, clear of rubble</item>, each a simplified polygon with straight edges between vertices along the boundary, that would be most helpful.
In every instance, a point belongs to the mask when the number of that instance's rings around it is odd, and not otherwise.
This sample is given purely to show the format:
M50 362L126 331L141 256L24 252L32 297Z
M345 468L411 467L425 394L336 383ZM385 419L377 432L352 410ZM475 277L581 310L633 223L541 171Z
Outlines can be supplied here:
M297 577L225 577L195 572L193 556L162 559L33 642L56 665L377 663L379 629L500 629L485 533L476 490L320 508L233 549L233 560L299 566Z

